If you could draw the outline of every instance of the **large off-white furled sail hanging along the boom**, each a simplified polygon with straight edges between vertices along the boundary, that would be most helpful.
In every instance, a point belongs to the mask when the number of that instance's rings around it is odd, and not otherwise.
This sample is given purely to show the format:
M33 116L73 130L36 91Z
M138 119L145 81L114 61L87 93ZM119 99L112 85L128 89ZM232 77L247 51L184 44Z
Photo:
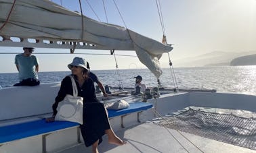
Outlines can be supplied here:
M0 36L3 38L89 42L98 49L136 51L140 61L156 78L160 77L159 59L173 49L171 46L121 26L85 16L82 23L81 19L80 13L47 0L16 0L15 3L0 0ZM3 42L0 46L4 46Z

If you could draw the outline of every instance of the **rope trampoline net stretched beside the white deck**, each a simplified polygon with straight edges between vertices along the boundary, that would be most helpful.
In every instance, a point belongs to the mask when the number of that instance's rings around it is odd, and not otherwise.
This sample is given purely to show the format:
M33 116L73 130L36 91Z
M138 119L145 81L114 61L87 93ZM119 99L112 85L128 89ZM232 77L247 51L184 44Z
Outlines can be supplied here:
M157 123L220 142L256 150L256 118L188 109Z

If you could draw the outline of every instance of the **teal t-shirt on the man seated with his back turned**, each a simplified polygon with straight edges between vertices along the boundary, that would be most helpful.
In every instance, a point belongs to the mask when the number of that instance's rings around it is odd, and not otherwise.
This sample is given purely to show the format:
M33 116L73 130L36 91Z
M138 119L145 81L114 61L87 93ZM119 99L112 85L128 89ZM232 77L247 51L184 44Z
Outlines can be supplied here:
M39 62L36 56L25 57L22 54L18 54L15 57L15 64L19 67L20 81L28 78L38 79L36 65L39 65Z

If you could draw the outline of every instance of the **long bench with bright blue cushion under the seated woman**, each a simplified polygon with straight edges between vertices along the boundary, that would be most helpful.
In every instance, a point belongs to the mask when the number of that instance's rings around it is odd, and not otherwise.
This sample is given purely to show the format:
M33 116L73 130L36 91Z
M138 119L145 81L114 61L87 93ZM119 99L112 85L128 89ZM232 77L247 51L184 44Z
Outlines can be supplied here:
M108 117L129 115L130 113L140 112L150 109L153 105L146 102L133 102L130 103L129 108L121 110L108 110ZM138 120L139 121L139 120ZM122 121L123 126L123 121ZM52 123L46 123L45 119L40 119L36 121L28 121L26 123L17 123L14 125L6 125L0 127L0 144L5 142L10 142L13 140L19 140L25 137L30 137L34 135L43 135L43 144L45 145L45 136L54 131L61 129L66 129L69 127L78 127L79 123L73 123L68 121L55 121ZM79 139L78 139L79 140ZM0 145L1 146L1 145ZM45 146L43 146L43 150Z

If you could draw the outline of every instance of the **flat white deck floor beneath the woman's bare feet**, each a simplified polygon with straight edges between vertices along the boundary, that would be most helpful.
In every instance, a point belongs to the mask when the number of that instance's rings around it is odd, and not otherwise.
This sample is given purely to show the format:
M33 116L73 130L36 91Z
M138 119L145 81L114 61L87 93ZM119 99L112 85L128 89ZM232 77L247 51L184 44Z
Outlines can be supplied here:
M107 137L104 136L104 141L99 146L99 152L256 152L255 150L249 150L247 148L241 148L182 132L182 134L195 145L194 146L177 131L173 129L167 130L165 127L158 126L152 122L121 129L116 131L116 134L127 140L127 144L124 146L108 144ZM196 148L196 146L199 149ZM91 152L91 147L86 148L84 144L79 144L78 146L60 152Z

